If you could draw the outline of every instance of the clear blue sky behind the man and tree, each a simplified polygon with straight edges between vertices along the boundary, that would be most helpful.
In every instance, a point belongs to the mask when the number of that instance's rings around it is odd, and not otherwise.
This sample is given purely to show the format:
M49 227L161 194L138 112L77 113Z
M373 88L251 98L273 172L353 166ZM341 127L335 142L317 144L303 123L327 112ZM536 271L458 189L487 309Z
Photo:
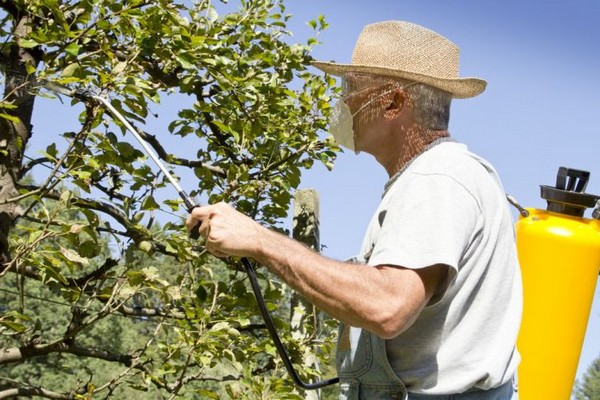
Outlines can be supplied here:
M411 21L448 37L461 48L461 75L488 81L482 95L454 101L452 135L491 161L506 191L523 206L545 208L539 185L554 184L560 166L590 171L587 192L600 195L600 1L287 0L285 4L293 14L289 28L298 41L304 42L310 32L308 20L323 14L329 22L313 53L320 60L349 62L361 28L377 21ZM53 123L77 129L77 114L68 104L39 99L36 105L34 127ZM58 122L56 115L62 116ZM155 133L166 129L168 115L169 110L161 109L160 118L149 121L145 129ZM44 140L52 139L36 138L36 143ZM350 152L340 155L332 172L316 166L304 175L301 188L314 188L320 195L325 255L344 259L358 251L386 180L372 157ZM598 287L590 316L578 376L600 356Z

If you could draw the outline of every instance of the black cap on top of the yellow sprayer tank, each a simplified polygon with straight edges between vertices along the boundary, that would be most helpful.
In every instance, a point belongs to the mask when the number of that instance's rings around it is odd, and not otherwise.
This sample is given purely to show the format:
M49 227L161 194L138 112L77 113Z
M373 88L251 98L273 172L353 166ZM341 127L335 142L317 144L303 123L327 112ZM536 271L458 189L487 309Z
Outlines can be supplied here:
M541 185L546 208L561 214L583 217L587 208L594 207L599 196L584 193L590 173L578 169L560 167L556 175L556 187Z

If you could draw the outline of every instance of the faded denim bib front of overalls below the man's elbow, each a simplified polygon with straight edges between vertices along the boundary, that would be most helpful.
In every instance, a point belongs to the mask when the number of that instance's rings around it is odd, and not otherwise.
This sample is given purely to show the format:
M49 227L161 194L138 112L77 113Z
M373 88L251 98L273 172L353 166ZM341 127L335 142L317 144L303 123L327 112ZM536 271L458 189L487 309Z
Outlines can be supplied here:
M385 340L343 324L339 332L340 400L406 400L406 387L388 362Z

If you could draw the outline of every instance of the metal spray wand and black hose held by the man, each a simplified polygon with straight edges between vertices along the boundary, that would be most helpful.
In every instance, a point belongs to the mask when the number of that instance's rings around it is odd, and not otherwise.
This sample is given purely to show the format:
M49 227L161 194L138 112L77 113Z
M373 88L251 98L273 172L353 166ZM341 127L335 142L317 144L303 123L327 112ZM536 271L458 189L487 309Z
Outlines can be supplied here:
M88 90L81 90L81 89L72 90L72 89L69 89L68 87L58 85L53 82L42 81L42 82L38 82L38 84L54 93L57 93L57 94L69 96L69 97L81 100L85 103L91 102L91 101L96 101L99 104L103 105L109 111L111 117L118 120L119 122L121 122L123 124L123 126L135 137L135 139L144 148L146 153L150 156L150 158L154 161L154 163L158 166L158 168L160 168L162 173L165 174L165 176L167 177L167 180L171 183L171 185L173 185L175 190L177 190L179 197L181 197L181 199L183 200L183 203L184 203L187 211L189 213L191 213L194 208L199 207L199 205L194 201L194 199L192 199L182 189L182 187L179 185L177 180L173 177L173 175L165 167L165 165L162 163L162 161L156 155L156 153L152 150L152 148L150 146L148 146L148 144L142 139L142 137L138 134L136 129L129 123L129 121L127 121L127 119L117 109L115 109L110 104L110 102L107 99L105 99L104 97L101 97L101 96L97 96ZM197 224L190 231L190 234L189 234L190 238L198 239L198 237L200 235L200 233L198 232L198 228L200 227L200 224L201 223ZM252 265L252 263L250 263L250 260L248 260L245 257L243 257L241 259L241 263L244 266L246 273L248 274L248 278L250 279L250 285L252 286L252 291L254 292L254 297L256 297L256 302L258 303L258 308L259 308L260 314L265 322L267 331L269 332L269 335L271 336L271 339L273 340L273 343L275 344L277 352L279 353L279 356L281 357L281 360L283 361L283 365L285 366L288 374L294 381L294 384L301 389L314 390L314 389L320 389L325 386L329 386L329 385L338 383L339 378L337 378L337 377L326 379L323 381L314 382L314 383L307 383L307 382L302 381L302 379L300 379L300 376L298 376L298 373L294 369L294 366L293 366L289 356L287 355L287 351L285 350L285 347L283 346L283 343L281 342L281 339L279 338L279 335L277 334L277 330L275 329L275 324L273 323L273 319L271 318L271 315L269 314L269 310L267 309L267 306L265 304L265 300L262 295L262 290L260 288L260 285L258 283L258 278L256 276L256 271L254 269L254 266Z

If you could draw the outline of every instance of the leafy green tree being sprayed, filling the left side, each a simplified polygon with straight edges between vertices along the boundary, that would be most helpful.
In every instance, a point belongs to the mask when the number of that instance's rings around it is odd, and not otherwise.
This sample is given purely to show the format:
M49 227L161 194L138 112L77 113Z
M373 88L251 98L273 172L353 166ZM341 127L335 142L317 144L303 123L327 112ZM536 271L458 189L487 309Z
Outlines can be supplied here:
M307 68L327 24L291 43L280 1L237 6L0 1L0 398L299 396L237 261L187 238L185 207L107 110L73 100L78 131L31 124L38 96L69 102L48 89L91 91L194 183L192 196L281 229L302 170L330 167L338 150L319 137L334 82ZM168 132L145 132L165 103L178 105ZM40 156L41 136L55 140ZM192 157L171 150L190 146ZM289 293L259 273L287 332ZM321 357L324 335L311 337L317 350L283 339L292 358Z

